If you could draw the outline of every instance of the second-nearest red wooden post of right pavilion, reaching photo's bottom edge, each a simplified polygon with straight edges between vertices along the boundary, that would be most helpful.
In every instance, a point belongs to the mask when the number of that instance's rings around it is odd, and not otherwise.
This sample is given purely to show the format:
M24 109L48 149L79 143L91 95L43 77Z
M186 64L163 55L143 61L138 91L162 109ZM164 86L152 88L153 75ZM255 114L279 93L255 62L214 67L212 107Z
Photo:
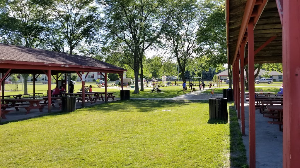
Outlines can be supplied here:
M249 71L249 163L255 168L255 94L254 94L254 33L253 19L248 23L248 71Z

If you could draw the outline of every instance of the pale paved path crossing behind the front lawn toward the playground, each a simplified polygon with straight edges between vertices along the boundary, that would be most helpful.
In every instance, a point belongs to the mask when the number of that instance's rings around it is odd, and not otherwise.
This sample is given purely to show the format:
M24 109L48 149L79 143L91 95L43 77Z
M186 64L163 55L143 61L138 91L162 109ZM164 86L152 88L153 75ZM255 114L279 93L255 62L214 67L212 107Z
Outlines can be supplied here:
M206 90L206 89L205 89ZM210 94L201 93L203 90L188 92L172 98L131 98L131 100L208 100ZM212 98L222 98L222 94L213 94Z

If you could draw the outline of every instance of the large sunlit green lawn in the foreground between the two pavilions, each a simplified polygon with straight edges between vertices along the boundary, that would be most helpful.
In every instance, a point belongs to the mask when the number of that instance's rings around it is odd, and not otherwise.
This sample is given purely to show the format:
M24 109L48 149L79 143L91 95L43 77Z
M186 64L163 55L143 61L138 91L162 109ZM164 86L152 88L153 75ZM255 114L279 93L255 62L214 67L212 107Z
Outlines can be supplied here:
M7 123L1 167L246 165L234 109L230 122L208 119L207 101L131 100Z

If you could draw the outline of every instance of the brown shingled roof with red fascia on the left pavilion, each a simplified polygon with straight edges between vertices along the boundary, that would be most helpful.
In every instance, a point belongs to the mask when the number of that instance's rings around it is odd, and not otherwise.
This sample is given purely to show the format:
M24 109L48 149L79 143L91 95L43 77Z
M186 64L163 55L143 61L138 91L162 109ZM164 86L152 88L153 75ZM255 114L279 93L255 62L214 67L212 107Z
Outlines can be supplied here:
M27 48L0 43L0 72L44 74L41 70L58 72L107 72L123 74L126 69L86 56Z

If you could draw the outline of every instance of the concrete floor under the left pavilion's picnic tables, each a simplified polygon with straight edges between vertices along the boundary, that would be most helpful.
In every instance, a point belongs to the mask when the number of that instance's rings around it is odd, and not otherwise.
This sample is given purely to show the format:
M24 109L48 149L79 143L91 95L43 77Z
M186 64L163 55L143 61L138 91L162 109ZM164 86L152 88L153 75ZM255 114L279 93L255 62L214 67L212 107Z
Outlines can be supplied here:
M120 98L114 98L114 100L109 99L108 102L113 102L117 100L120 100ZM82 108L81 103L82 101L76 102L76 109ZM96 103L93 102L93 104L91 104L90 102L85 102L84 104L85 107L88 107L88 106L93 106L93 105L103 104L103 103L105 103L105 101L97 101ZM9 112L8 114L5 114L6 119L1 119L1 122L25 120L25 119L49 114L47 105L43 108L43 112L40 112L39 109L32 109L30 110L29 114L25 114L26 110L24 108L19 108L19 111L16 111L15 108L7 108L7 110L12 110L12 111ZM55 104L55 107L52 107L51 109L51 113L59 113L59 112L61 112L61 109L58 109L58 105Z

